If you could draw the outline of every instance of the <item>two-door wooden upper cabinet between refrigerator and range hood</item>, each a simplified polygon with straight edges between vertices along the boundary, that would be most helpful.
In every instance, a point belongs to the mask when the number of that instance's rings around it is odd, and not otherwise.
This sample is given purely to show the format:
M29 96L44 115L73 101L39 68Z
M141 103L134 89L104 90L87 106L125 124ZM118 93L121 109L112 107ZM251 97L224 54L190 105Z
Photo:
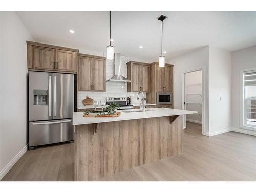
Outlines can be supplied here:
M106 91L106 58L79 54L78 91Z

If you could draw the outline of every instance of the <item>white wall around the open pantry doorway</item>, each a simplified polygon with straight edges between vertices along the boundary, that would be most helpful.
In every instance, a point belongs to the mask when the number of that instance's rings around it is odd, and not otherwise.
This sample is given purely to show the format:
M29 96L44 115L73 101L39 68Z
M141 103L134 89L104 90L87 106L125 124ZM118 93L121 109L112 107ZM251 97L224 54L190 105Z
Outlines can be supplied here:
M209 46L191 51L179 57L172 58L166 63L174 64L174 108L182 109L182 73L204 68L205 84L204 98L205 98L205 132L209 132L209 105L208 105L208 65L209 65Z

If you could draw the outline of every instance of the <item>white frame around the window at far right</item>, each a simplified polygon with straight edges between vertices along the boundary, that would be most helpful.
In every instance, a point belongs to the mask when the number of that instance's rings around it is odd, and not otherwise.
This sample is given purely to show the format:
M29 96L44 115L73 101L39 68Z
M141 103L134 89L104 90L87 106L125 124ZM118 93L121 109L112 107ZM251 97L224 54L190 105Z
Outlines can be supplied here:
M245 94L245 86L244 86L244 74L250 73L250 72L256 72L256 67L254 68L247 68L247 69L241 69L239 70L239 119L240 119L240 127L242 129L247 130L256 130L256 126L248 125L247 121L245 122L245 119L247 119L247 113L246 113L246 99L244 99Z

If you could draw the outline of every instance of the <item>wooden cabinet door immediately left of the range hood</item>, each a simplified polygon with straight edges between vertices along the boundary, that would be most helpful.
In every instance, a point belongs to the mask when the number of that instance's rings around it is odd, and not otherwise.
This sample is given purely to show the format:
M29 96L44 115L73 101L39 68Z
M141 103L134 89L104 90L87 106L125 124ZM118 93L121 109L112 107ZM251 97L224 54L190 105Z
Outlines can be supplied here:
M106 91L106 61L104 59L92 59L93 91Z

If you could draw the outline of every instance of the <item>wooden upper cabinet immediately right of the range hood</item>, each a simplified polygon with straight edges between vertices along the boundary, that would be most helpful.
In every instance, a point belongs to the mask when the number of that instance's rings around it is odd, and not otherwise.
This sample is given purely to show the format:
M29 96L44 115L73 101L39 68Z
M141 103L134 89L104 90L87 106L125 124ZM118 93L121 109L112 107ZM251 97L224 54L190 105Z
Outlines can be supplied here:
M150 92L150 66L147 63L130 61L127 63L128 92Z

